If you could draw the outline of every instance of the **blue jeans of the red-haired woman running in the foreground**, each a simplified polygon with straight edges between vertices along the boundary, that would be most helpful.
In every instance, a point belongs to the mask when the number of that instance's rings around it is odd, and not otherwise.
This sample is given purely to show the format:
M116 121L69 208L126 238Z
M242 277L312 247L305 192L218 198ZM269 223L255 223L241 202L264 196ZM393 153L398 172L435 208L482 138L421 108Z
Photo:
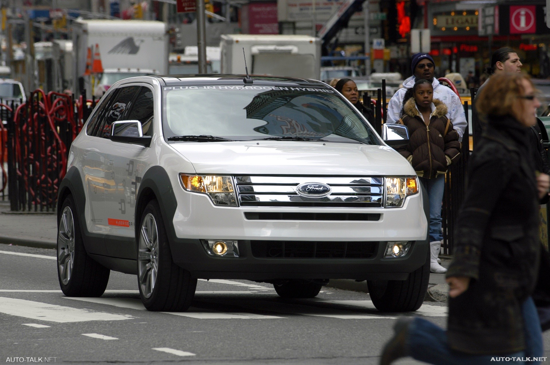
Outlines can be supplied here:
M475 356L451 350L447 332L437 325L416 317L411 322L406 343L406 353L416 360L436 365L483 365L494 364L493 357L541 357L542 333L535 303L529 297L521 307L525 322L525 350L507 355ZM499 361L499 364L524 364L523 361ZM530 364L540 362L530 362Z

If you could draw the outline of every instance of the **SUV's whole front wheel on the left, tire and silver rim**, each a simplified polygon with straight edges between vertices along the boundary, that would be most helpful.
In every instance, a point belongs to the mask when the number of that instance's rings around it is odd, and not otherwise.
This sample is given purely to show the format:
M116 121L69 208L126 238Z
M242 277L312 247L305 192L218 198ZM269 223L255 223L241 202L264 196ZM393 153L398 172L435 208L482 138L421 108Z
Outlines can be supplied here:
M191 305L197 279L175 265L157 200L151 200L140 219L138 287L150 311L184 312Z

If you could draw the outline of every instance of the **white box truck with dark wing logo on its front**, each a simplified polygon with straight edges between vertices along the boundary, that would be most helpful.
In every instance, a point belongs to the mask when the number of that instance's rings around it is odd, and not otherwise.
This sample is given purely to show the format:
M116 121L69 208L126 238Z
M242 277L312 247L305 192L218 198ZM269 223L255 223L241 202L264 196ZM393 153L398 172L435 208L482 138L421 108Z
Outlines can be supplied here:
M168 35L166 23L162 21L78 20L73 23L73 44L75 94L84 87L91 96L91 78L81 77L86 71L87 48L92 47L93 54L96 44L103 65L100 81L95 80L96 96L123 78L168 74Z

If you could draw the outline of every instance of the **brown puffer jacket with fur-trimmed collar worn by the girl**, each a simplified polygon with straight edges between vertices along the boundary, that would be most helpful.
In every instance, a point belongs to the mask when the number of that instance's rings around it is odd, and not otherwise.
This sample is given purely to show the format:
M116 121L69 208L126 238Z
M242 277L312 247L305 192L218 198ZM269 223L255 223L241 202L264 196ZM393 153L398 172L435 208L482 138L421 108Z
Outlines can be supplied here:
M458 132L447 118L447 105L433 99L435 110L426 125L416 108L414 98L408 100L403 108L404 114L399 123L409 128L410 142L397 150L406 158L416 174L424 178L436 178L447 172L447 166L460 156Z

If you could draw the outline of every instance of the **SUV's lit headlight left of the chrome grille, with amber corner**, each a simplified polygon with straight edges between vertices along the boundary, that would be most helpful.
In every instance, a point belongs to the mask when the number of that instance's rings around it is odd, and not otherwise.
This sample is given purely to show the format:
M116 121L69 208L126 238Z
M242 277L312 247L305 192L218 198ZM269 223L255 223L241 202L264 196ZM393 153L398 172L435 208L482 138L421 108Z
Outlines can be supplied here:
M230 176L179 174L185 190L210 195L215 205L237 206L233 181Z

